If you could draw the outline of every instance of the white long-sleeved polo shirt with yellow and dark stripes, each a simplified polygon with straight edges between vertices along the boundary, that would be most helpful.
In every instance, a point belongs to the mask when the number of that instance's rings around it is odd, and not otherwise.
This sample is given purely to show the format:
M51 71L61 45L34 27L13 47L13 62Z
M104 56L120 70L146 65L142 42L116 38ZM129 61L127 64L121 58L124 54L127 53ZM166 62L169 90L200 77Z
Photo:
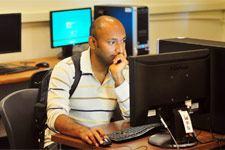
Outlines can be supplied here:
M117 103L123 118L129 119L128 67L123 70L125 81L116 88L110 71L102 84L94 76L91 68L90 49L82 52L80 67L82 75L70 99L69 90L75 79L75 69L71 57L60 61L54 67L48 92L48 126L55 130L55 120L61 114L68 115L77 123L87 127L109 123ZM46 142L50 142L49 138L52 134L53 132L47 129Z

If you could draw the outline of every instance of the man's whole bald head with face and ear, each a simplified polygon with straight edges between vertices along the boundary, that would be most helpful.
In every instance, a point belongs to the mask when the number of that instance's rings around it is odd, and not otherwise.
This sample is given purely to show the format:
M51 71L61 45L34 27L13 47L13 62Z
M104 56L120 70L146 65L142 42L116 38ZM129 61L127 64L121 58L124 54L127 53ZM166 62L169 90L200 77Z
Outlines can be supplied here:
M108 68L119 54L126 53L126 32L122 23L111 16L100 16L91 25L88 43L93 63Z

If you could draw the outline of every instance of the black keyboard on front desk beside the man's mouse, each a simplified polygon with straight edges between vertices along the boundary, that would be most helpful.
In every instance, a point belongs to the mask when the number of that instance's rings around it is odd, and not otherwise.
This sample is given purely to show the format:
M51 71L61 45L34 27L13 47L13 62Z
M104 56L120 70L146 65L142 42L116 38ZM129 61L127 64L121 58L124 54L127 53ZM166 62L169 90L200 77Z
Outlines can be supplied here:
M147 124L137 127L129 127L126 129L122 129L113 133L107 134L107 136L111 139L113 142L122 142L127 141L131 139L138 138L144 134L147 134L150 131L153 130L159 130L163 126L161 123L153 123L153 124Z

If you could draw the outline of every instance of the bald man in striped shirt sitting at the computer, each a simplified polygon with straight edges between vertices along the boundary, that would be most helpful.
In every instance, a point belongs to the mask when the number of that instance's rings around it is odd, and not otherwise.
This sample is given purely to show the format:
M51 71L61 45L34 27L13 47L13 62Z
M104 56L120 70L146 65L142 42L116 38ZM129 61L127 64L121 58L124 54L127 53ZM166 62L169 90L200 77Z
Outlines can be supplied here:
M92 126L110 122L116 104L123 118L129 119L129 71L123 25L110 16L97 18L90 28L90 48L81 55L82 76L69 99L75 70L71 58L59 62L52 73L47 106L51 130L81 138L99 146L107 137L101 128ZM47 129L45 146L54 134Z

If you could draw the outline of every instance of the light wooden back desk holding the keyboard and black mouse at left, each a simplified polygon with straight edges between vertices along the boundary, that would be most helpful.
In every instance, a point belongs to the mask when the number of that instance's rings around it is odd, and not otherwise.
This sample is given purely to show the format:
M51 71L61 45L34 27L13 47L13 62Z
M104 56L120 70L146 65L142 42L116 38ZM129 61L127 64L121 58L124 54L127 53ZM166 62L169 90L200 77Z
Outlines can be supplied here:
M17 61L17 62L9 62L9 63L17 64L17 65L27 64L29 66L35 66L39 62L47 62L47 63L49 63L50 67L53 67L59 61L60 61L60 59L58 59L57 57L46 57L46 58L39 58L39 59L22 60L22 61ZM4 64L4 63L2 63L2 64ZM33 73L35 73L36 71L42 70L42 69L45 69L45 68L41 67L36 70L30 70L30 71L7 74L7 75L0 75L0 84L8 84L8 83L27 81L30 79L30 77L32 76Z

